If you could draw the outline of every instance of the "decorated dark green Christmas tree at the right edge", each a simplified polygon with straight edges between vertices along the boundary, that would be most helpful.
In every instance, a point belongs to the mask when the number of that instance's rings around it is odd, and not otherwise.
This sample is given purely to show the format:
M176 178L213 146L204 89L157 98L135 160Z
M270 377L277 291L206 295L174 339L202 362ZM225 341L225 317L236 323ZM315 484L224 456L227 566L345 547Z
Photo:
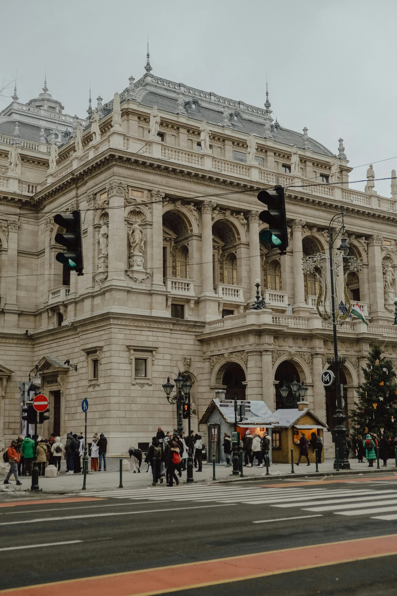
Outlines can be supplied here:
M387 438L397 431L397 384L395 371L389 358L382 355L380 346L373 346L362 368L365 382L358 386L358 400L350 412L350 423L358 434L365 428L378 437L383 429Z

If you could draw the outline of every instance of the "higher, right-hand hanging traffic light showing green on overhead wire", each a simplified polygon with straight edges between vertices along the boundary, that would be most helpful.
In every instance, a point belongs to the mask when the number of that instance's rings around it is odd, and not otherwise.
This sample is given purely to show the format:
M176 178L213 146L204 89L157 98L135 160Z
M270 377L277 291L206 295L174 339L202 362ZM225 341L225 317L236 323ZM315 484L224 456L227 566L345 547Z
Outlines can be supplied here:
M259 238L262 242L270 244L272 249L279 249L281 254L285 254L288 232L283 187L276 186L271 190L261 190L258 193L258 200L267 205L267 210L262 211L259 218L269 226L269 229L260 231Z

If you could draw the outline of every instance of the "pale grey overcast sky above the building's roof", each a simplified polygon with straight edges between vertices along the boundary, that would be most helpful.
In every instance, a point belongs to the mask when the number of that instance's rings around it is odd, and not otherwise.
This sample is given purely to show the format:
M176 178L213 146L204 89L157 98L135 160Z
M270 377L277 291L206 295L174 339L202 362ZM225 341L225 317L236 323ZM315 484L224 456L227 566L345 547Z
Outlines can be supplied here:
M376 178L397 169L395 0L2 0L1 13L0 80L18 69L21 101L42 91L46 63L52 97L85 117L90 82L96 105L145 73L149 35L154 75L257 106L267 75L282 126L335 153L342 136L349 165L371 162ZM389 196L390 181L376 190Z

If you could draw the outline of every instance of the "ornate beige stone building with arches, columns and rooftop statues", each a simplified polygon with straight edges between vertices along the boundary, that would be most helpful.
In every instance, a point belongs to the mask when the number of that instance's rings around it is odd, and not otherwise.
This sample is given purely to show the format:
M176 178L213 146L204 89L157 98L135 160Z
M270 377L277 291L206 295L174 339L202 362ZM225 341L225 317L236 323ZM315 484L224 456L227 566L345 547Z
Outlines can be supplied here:
M332 330L315 309L327 268L318 277L302 263L326 262L343 204L359 263L347 271L336 259L338 300L346 273L369 322L338 328L350 408L370 344L397 359L395 185L380 197L368 170L367 192L349 188L343 140L334 156L306 128L283 128L268 95L258 108L154 76L149 59L145 70L108 103L99 97L87 119L63 114L46 85L27 104L15 89L0 114L0 442L20 430L18 381L35 364L51 408L43 433L82 430L87 398L89 433L105 432L112 454L173 429L161 386L179 370L194 381L198 417L223 387L274 411L280 381L295 376L332 425L335 395L320 381ZM283 256L258 235L257 193L275 184L290 228ZM83 277L55 260L52 218L75 209ZM257 278L259 312L248 310Z

